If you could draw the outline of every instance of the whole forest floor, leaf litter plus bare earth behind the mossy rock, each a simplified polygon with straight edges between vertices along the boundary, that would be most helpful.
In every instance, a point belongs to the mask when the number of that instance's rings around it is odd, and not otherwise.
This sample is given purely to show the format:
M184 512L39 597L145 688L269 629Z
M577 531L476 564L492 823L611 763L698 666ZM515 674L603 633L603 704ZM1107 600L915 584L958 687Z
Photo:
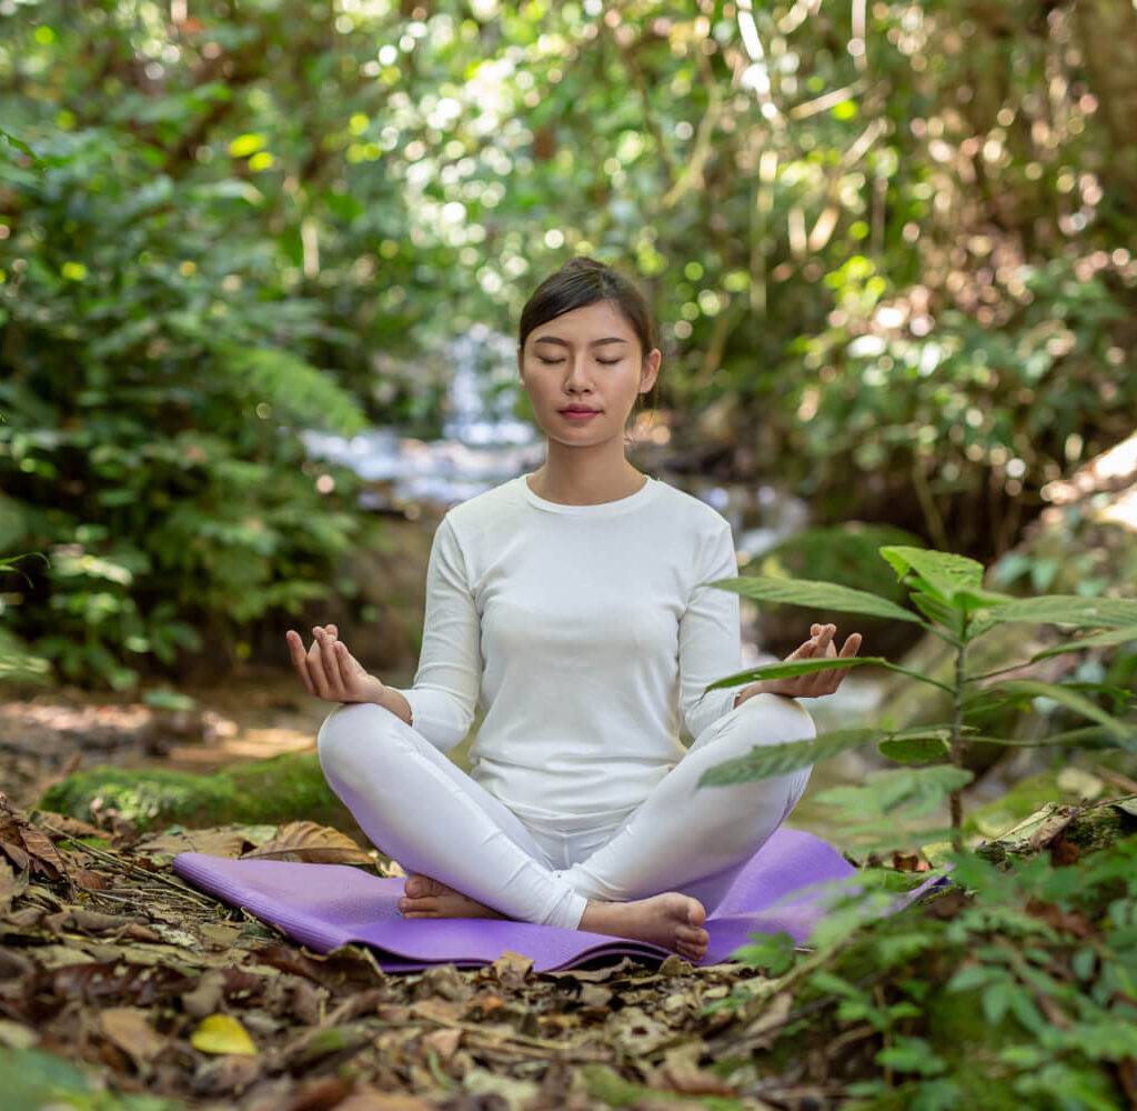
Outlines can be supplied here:
M479 969L384 973L365 946L314 953L185 885L171 870L185 834L34 809L78 768L208 771L310 749L329 708L281 673L186 693L197 710L67 690L0 706L6 1108L790 1111L839 1106L875 1071L871 1023L778 1052L818 1005L795 994L800 965L779 978L746 962L623 957L534 973L505 953ZM789 824L825 836L803 812ZM194 831L189 847L238 855L273 834ZM927 868L914 855L880 863ZM960 895L898 918L946 926Z

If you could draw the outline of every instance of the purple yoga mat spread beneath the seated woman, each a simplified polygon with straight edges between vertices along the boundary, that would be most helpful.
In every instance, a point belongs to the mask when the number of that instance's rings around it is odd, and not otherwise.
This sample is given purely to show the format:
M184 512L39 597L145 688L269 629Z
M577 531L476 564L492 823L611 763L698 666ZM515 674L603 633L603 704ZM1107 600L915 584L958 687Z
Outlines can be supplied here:
M385 971L413 971L433 964L489 964L506 950L532 957L533 969L550 972L598 956L629 954L663 960L670 954L649 942L634 942L587 930L537 926L509 919L402 918L398 901L401 877L370 874L348 864L232 860L205 853L180 853L174 871L234 906L279 927L318 953L349 942L377 950ZM835 896L855 885L828 890L815 885L847 880L856 869L828 841L785 826L754 854L715 906L707 906L711 935L702 964L715 964L756 932L786 930L798 945L824 918ZM897 896L881 913L893 914L931 887L949 884L929 877Z

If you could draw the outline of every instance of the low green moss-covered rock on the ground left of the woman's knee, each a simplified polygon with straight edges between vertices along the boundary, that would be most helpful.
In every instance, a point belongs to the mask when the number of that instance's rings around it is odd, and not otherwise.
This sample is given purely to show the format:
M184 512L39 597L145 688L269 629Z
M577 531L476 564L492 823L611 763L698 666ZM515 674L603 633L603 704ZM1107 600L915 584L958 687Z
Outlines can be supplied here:
M84 821L115 810L140 830L308 820L359 836L315 753L283 753L209 773L92 768L49 788L39 805Z

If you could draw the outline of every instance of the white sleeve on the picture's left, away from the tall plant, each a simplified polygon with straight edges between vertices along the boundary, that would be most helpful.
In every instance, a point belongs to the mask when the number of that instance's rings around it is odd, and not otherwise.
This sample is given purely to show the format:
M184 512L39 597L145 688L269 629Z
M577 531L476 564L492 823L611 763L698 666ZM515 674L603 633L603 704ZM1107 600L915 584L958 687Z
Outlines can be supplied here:
M466 561L449 517L443 516L426 563L423 642L414 686L393 687L410 704L412 726L435 748L454 748L474 721L482 661L478 607Z

